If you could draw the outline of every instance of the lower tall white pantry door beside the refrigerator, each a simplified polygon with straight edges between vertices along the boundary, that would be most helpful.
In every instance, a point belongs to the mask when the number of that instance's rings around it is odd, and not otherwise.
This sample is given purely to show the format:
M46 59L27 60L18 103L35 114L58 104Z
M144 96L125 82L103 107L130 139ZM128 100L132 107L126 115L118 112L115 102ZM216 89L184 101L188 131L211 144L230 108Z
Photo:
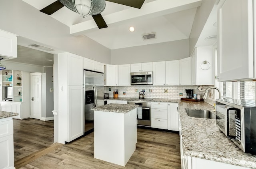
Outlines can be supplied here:
M68 142L84 134L84 88L68 86Z

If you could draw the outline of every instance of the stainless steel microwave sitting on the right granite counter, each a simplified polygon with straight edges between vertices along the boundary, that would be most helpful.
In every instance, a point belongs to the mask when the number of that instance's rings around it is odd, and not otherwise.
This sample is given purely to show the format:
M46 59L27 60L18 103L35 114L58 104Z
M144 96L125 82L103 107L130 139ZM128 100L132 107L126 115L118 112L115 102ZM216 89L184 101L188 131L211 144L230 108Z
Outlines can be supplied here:
M216 99L216 125L240 149L256 155L256 100Z

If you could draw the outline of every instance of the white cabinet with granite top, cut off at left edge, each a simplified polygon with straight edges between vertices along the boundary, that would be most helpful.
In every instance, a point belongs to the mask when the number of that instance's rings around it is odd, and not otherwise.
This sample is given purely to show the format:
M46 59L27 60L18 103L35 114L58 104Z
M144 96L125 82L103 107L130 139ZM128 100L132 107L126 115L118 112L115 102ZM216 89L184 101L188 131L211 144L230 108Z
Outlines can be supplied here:
M13 116L18 113L0 111L0 168L14 169Z

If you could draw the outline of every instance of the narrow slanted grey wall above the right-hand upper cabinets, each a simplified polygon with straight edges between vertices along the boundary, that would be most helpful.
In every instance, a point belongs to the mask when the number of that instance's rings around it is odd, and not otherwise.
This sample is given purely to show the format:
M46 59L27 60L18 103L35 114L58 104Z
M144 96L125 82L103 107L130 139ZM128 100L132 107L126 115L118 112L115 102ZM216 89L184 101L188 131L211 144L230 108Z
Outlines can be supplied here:
M201 6L197 8L189 36L189 54L193 52L196 42L216 1L217 0L203 0Z

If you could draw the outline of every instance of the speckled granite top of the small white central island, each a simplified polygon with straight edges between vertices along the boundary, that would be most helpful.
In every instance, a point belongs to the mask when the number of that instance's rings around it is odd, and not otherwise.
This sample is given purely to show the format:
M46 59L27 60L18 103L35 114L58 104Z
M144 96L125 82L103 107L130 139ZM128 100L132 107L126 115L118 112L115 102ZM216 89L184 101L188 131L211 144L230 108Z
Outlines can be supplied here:
M127 113L137 107L138 107L138 105L111 103L111 104L101 105L101 106L92 108L92 110L108 111L108 112L114 112L114 113Z

